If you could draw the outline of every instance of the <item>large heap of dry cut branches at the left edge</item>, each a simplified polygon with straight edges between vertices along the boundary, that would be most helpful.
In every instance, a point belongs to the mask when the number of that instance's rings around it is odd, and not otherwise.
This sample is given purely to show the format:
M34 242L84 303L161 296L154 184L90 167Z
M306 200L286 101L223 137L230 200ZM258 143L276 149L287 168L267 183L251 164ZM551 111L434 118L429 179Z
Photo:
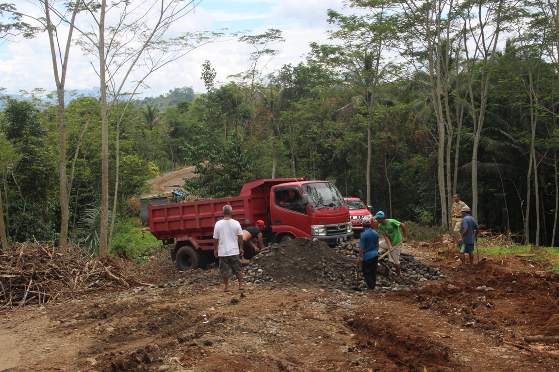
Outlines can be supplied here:
M17 243L0 249L0 308L42 304L56 298L138 284L112 260L92 258L79 247Z

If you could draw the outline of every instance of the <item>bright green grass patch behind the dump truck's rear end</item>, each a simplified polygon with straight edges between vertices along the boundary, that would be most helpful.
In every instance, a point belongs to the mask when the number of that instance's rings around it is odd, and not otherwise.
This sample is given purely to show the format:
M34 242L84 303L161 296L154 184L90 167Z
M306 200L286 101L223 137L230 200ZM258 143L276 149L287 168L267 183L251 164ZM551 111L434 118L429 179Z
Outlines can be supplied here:
M140 223L131 220L115 225L111 250L125 251L129 258L138 263L148 260L151 255L162 250L163 245L151 235L149 229L142 231L143 228Z

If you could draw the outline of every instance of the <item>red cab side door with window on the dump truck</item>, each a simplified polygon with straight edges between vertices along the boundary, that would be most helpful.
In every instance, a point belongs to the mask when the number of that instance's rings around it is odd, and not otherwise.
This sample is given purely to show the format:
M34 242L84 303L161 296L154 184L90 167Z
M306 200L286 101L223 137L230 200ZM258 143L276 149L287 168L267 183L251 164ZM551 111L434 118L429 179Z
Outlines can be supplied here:
M277 187L270 198L272 231L295 238L310 238L310 218L298 187Z

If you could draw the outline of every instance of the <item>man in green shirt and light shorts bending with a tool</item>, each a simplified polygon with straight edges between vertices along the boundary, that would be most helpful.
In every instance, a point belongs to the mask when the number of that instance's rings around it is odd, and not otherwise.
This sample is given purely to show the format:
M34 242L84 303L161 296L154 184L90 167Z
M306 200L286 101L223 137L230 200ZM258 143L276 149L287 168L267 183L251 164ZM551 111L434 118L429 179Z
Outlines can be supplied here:
M400 252L402 252L402 243L408 241L408 229L400 221L387 219L383 211L378 211L373 218L377 220L378 232L385 238L378 244L378 254L389 252L388 260L396 265L396 277L399 278ZM400 234L399 228L402 228L404 236Z

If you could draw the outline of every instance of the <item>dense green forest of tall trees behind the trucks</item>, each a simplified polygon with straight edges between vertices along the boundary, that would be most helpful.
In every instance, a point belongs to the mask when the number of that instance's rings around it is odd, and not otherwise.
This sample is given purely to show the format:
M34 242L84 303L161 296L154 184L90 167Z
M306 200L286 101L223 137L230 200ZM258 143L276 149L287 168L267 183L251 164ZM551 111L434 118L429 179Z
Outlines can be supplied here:
M69 239L87 239L96 213L115 201L118 216L133 215L128 200L146 180L193 164L200 177L184 189L199 197L236 195L259 177L307 176L344 195L362 190L373 210L428 226L448 225L459 192L485 228L557 245L556 2L352 0L345 10L327 15L330 44L311 44L304 62L272 73L265 67L282 32L235 35L254 47L249 68L217 84L206 61L207 93L196 100L191 88L136 105L113 92L110 109L106 97L73 99ZM60 107L8 99L1 120L8 239L58 239Z

